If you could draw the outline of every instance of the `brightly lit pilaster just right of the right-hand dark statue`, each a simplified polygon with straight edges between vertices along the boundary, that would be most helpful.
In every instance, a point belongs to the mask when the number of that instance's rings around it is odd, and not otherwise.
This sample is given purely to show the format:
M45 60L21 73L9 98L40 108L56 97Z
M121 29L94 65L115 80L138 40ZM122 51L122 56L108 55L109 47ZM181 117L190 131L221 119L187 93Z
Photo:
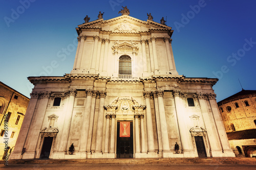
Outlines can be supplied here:
M182 151L183 153L187 151L189 152L191 151L191 148L190 148L191 135L189 134L189 130L187 129L186 123L184 121L186 115L185 115L184 105L182 104L182 100L180 98L182 94L180 93L180 91L174 90L173 95L174 95L174 101L175 101L175 108L177 112L177 120L179 125Z

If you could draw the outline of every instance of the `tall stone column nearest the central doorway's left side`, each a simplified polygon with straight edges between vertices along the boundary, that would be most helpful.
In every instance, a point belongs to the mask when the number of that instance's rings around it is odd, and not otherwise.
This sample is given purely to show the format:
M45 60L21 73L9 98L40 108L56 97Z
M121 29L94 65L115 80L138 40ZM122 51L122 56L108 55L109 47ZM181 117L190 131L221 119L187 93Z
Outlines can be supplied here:
M97 133L96 133L96 145L95 153L102 152L102 134L103 134L103 117L104 117L104 102L105 102L105 91L99 91L99 113L98 113L98 123L97 123Z

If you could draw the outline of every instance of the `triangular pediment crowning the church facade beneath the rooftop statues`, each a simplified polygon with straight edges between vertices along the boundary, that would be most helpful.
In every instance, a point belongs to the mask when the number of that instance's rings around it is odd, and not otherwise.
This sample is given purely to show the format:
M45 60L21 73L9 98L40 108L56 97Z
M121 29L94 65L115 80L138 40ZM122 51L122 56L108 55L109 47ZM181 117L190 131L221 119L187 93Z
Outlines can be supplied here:
M172 30L171 27L162 25L152 20L143 21L129 15L104 20L97 19L78 26L78 29L99 29L113 33L140 33L151 30Z

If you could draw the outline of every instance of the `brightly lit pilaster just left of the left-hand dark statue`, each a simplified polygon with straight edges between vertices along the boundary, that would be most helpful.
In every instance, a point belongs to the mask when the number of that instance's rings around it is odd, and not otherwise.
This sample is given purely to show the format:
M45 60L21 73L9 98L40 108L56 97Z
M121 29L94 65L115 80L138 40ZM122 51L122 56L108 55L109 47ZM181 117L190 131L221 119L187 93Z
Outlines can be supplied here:
M61 139L60 139L60 151L64 151L64 152L67 151L70 125L71 125L71 119L72 119L72 113L73 113L76 93L77 93L76 89L70 89L67 92L67 95L69 96L69 101L67 102L68 107L67 107L67 111L65 114L65 120L64 120L65 126L63 126Z

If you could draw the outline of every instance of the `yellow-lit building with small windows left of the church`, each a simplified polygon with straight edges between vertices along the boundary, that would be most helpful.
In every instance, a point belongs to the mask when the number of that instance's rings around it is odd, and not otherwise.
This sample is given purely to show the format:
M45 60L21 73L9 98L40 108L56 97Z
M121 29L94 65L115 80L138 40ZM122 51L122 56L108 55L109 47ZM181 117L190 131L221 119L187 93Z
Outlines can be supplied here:
M22 126L29 98L0 82L0 159L8 159Z

